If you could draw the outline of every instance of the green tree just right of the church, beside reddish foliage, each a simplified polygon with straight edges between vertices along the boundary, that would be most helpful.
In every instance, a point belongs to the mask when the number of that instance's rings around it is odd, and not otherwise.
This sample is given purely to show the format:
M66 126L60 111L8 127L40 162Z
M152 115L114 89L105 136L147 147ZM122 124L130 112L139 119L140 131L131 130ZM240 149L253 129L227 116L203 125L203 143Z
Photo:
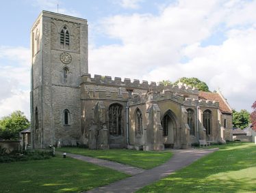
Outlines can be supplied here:
M250 113L245 109L240 110L240 112L235 111L234 109L232 111L233 111L233 126L235 128L241 128L241 129L246 128L248 123L250 123Z

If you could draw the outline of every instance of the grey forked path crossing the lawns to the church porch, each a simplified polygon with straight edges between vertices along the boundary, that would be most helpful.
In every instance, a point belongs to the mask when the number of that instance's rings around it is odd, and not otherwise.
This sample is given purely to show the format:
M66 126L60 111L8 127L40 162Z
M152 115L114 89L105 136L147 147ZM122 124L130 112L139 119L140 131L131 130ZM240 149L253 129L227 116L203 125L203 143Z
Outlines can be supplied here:
M175 149L172 150L172 158L165 164L161 166L157 166L155 168L149 170L142 170L140 168L135 168L132 166L127 166L124 164L118 164L116 162L110 162L106 160L101 160L97 158L90 158L83 155L76 155L73 153L67 153L68 156L78 159L84 160L86 162L90 162L93 164L98 164L100 166L105 166L107 168L112 168L114 170L121 171L123 173L127 173L133 175L132 177L128 177L126 179L116 181L109 185L105 185L99 188L95 188L93 190L89 190L89 192L136 192L140 188L153 183L163 177L170 175L175 172L175 170L179 170L185 166L188 166L192 162L199 160L199 158L217 151L218 148L214 149ZM85 192L84 192L85 193Z

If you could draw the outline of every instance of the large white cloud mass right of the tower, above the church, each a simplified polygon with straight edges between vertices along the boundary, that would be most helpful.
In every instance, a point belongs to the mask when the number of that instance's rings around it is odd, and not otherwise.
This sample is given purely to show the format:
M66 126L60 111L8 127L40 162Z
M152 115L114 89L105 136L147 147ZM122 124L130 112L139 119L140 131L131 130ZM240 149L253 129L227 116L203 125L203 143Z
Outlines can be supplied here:
M91 48L90 73L154 81L194 76L212 90L220 87L233 108L250 110L256 99L254 8L255 1L181 0L158 16L106 18L103 31L123 44ZM227 39L201 47L216 31ZM181 57L188 62L180 63Z

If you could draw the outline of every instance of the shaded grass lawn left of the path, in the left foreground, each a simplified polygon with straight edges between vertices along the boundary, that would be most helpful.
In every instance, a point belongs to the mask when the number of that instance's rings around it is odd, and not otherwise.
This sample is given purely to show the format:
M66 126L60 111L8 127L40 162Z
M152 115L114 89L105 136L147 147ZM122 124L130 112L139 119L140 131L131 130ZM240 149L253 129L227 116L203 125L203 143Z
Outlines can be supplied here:
M128 177L73 158L0 163L0 192L81 192Z

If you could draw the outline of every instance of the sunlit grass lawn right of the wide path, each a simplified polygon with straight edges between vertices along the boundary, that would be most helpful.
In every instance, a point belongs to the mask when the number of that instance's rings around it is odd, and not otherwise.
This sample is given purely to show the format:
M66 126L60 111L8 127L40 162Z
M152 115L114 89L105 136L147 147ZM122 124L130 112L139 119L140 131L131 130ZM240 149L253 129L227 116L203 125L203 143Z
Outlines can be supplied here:
M229 143L138 192L256 192L256 145Z

